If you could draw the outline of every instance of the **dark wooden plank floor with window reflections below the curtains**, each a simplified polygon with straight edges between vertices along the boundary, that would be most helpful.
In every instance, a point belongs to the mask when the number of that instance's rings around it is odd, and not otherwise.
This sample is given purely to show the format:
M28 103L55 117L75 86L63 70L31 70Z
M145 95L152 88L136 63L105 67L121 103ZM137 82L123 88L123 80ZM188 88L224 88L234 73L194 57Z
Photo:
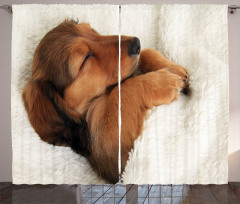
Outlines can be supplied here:
M228 185L12 185L0 183L0 203L240 204L240 183Z

